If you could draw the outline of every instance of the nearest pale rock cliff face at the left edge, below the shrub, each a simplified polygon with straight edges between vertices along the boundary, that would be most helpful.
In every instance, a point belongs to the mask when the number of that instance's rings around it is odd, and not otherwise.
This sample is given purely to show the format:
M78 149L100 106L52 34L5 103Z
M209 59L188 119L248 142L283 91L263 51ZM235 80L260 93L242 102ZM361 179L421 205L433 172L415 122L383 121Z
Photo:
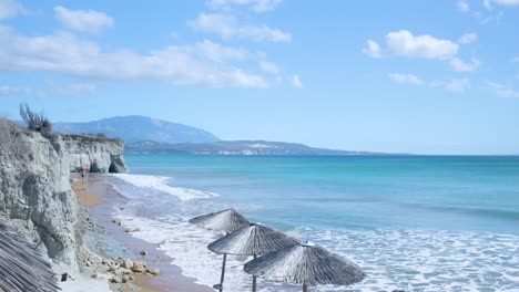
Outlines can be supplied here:
M22 154L0 154L0 220L42 254L75 267L75 196L67 160L37 133L19 135Z

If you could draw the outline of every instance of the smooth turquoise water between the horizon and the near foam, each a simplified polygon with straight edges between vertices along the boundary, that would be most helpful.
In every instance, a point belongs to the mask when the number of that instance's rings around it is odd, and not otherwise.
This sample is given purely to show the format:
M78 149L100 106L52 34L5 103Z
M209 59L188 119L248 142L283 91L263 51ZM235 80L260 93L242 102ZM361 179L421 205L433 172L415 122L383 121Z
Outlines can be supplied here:
M126 156L132 174L172 177L257 205L289 228L423 227L519 233L519 157Z

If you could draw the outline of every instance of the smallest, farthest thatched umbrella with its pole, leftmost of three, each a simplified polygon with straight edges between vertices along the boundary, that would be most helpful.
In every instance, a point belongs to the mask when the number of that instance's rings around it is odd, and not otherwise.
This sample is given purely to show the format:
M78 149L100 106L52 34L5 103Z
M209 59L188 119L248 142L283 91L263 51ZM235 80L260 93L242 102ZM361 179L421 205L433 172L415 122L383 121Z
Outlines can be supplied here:
M248 225L248 220L234 209L226 209L217 212L212 212L203 216L195 217L190 220L191 223L204 227L212 230L225 231L226 234ZM222 263L222 275L220 277L220 284L213 285L214 289L223 291L223 280L225 278L225 262L227 254L224 253Z

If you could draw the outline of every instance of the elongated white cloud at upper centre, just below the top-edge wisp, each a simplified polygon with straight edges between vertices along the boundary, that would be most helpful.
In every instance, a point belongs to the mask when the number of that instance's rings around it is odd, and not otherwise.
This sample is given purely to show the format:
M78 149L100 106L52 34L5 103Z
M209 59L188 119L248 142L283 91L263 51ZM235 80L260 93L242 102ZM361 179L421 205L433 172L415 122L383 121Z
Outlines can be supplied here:
M247 39L256 42L289 42L292 34L267 25L240 25L234 17L220 13L201 13L187 25L196 31L214 33L222 39Z

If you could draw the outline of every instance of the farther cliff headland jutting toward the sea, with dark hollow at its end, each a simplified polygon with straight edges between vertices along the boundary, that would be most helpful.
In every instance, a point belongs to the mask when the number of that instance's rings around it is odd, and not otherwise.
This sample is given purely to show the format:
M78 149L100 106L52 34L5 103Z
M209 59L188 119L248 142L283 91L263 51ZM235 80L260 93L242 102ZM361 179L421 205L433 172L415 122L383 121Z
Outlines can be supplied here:
M86 135L53 135L49 138L62 154L71 171L81 171L88 165L90 173L125 173L124 143L120 139Z

